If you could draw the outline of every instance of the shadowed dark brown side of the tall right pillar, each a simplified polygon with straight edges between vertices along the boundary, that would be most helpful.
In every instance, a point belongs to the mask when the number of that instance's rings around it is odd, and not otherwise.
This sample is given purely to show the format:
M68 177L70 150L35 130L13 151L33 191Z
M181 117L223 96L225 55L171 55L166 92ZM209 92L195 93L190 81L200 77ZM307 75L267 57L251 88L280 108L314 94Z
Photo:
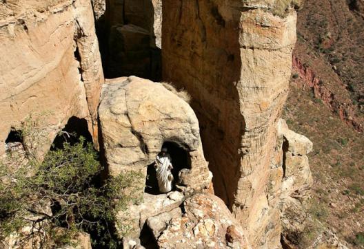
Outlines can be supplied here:
M228 6L222 5L163 1L162 78L191 94L214 191L232 210L245 122L236 88L241 80L239 18L224 17L220 10Z

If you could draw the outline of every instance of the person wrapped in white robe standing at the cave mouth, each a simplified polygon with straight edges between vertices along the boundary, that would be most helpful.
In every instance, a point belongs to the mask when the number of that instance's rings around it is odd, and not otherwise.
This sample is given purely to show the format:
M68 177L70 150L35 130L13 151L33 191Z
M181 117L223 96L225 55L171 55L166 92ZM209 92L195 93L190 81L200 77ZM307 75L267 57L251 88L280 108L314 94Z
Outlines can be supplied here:
M172 191L173 175L171 170L172 158L168 154L167 148L162 148L161 152L156 156L154 162L156 169L156 180L158 181L159 191L161 193L168 193Z

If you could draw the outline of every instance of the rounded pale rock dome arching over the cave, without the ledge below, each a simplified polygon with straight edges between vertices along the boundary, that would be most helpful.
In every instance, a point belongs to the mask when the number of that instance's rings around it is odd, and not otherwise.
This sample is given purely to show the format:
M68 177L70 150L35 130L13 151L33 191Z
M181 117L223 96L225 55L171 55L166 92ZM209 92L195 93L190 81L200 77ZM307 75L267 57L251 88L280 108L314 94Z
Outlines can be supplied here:
M163 142L175 142L189 153L195 177L208 177L199 122L187 102L160 83L135 76L108 80L99 106L105 158L111 175L141 170L154 162ZM186 168L188 166L186 165ZM199 171L199 168L203 171ZM196 179L195 179L196 180Z

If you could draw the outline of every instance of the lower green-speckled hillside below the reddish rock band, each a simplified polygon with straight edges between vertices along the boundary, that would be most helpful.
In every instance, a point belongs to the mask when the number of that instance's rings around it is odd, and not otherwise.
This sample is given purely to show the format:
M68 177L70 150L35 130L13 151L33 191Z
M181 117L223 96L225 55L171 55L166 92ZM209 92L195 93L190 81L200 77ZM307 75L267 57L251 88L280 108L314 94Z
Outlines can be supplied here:
M334 230L342 240L361 248L364 217L364 142L322 102L301 79L291 82L283 118L290 129L314 143L309 154L314 177L312 217Z

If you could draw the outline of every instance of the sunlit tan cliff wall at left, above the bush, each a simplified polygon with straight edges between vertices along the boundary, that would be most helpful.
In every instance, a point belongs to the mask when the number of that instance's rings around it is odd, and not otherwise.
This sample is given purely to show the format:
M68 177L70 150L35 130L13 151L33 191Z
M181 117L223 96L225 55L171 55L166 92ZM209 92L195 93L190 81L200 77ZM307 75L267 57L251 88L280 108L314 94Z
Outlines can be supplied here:
M103 73L90 1L3 1L0 43L1 144L41 111L52 113L44 149L71 116L86 118L97 138Z

